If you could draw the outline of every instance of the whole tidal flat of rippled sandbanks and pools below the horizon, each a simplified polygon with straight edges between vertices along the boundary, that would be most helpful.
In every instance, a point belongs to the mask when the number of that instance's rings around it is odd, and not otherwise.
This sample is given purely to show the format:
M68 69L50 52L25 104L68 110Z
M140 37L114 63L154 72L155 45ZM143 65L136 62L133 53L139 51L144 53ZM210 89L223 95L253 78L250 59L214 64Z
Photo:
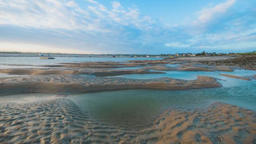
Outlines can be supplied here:
M256 142L255 56L2 59L3 144Z

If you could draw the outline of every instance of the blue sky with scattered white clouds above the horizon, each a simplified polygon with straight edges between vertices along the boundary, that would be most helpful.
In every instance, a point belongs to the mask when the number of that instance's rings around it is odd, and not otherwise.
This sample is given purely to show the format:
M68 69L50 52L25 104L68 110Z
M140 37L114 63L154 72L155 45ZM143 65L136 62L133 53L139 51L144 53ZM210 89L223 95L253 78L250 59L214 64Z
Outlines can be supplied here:
M0 0L0 51L256 51L256 0Z

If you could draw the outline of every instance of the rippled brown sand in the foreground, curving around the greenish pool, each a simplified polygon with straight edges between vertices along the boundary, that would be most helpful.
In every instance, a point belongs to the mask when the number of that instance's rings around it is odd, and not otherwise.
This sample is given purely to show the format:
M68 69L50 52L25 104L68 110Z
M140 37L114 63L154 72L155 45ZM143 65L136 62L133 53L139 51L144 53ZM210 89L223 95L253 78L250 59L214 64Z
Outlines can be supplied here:
M67 98L0 105L0 143L253 143L256 114L214 103L170 109L139 131L117 128L83 112Z

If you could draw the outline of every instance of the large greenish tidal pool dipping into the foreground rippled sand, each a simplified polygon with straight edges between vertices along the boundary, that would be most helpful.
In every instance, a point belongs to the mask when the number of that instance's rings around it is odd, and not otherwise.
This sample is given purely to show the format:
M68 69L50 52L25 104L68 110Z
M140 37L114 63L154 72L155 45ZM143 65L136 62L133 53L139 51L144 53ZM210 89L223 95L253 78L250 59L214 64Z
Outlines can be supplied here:
M238 84L194 90L122 90L65 96L15 94L1 96L1 102L26 103L64 97L92 116L92 121L123 130L141 130L151 126L162 112L170 108L204 108L218 101L256 110L256 80L242 80Z

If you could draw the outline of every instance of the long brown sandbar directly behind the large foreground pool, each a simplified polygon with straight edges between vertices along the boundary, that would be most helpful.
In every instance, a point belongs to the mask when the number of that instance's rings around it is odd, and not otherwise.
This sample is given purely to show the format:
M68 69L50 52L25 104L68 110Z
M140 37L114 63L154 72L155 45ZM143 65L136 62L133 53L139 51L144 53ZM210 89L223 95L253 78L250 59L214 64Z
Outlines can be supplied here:
M101 78L76 75L47 75L0 78L0 95L28 92L82 93L128 89L187 90L220 87L215 78L198 76L196 80L158 78L134 80L127 78Z

